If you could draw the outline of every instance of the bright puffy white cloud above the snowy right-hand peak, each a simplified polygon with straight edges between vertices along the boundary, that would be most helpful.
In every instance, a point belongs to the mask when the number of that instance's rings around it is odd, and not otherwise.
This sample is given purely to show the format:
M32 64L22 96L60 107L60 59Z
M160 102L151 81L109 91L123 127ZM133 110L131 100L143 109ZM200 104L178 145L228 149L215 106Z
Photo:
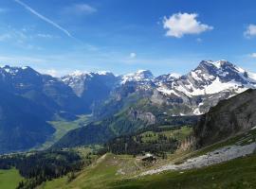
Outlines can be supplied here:
M165 17L163 26L167 29L166 36L181 38L186 34L200 34L213 29L213 26L201 24L196 13L175 13L169 18Z

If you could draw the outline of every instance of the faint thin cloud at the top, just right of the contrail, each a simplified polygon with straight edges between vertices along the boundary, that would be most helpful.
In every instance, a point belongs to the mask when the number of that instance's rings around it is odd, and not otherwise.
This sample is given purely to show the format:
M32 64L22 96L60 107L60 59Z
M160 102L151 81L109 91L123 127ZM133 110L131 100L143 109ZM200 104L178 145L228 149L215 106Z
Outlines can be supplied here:
M89 6L88 4L74 4L70 7L64 8L64 13L74 14L74 15L84 15L84 14L92 14L97 12L97 9Z

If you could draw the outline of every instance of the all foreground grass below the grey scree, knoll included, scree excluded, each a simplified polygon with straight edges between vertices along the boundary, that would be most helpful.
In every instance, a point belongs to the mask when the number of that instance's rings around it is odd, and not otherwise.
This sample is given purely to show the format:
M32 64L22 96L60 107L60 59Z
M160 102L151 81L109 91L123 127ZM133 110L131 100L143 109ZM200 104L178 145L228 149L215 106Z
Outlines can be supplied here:
M115 159L114 159L115 157ZM122 168L127 175L117 174ZM130 174L129 174L130 169ZM52 188L255 188L256 187L256 155L236 159L196 170L184 172L164 172L158 175L139 179L128 179L133 176L137 165L129 156L106 155L98 163L84 169L78 177L67 182L64 177L51 180L41 186L41 189ZM128 172L127 172L128 170Z

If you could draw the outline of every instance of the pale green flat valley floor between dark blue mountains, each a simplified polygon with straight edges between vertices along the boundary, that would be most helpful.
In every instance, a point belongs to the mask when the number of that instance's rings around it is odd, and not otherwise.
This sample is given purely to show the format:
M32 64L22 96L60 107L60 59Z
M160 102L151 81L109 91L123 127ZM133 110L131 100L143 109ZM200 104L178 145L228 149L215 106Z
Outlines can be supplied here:
M54 134L46 140L46 143L43 144L39 149L45 149L49 146L52 146L55 142L60 140L64 134L66 134L69 130L78 129L84 126L88 122L89 115L81 115L75 121L51 121L49 124L56 129Z

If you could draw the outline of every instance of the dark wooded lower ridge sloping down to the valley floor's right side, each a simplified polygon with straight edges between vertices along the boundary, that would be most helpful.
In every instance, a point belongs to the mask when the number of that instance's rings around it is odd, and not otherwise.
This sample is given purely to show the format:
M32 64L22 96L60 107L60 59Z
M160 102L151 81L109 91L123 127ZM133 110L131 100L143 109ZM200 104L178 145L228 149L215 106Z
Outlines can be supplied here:
M138 116L138 114L137 114ZM166 117L166 119L165 119ZM119 136L133 135L139 130L152 131L166 127L176 129L182 126L192 126L198 120L197 116L167 117L159 114L155 118L154 124L149 124L147 117L135 117L130 113L122 112L102 121L97 121L86 125L80 129L68 131L52 148L86 146L91 144L101 144L108 142ZM72 141L72 143L71 143Z

